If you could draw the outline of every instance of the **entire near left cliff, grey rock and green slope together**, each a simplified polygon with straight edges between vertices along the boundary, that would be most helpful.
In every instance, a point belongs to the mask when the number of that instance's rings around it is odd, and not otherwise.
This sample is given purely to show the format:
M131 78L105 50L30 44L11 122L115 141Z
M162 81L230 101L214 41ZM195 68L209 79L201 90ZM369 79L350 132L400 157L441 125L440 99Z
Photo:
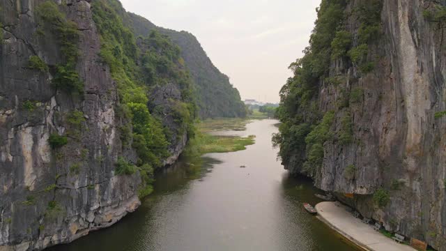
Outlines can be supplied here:
M193 136L180 48L116 0L0 1L0 250L109 227Z

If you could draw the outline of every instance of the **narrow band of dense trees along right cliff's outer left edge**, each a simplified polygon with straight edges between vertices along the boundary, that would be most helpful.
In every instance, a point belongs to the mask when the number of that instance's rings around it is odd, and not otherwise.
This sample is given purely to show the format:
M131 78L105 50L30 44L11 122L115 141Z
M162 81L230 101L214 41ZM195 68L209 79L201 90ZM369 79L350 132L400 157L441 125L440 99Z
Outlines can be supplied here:
M330 126L334 112L321 119L314 98L321 79L328 77L330 60L346 54L350 34L337 31L344 20L344 0L321 2L318 20L310 38L305 56L291 63L294 77L288 79L280 91L281 103L277 116L282 121L279 134L273 137L280 146L279 156L287 165L302 165L309 174L314 174L323 159L323 144L331 138ZM333 53L332 53L333 51ZM295 158L307 152L307 158Z

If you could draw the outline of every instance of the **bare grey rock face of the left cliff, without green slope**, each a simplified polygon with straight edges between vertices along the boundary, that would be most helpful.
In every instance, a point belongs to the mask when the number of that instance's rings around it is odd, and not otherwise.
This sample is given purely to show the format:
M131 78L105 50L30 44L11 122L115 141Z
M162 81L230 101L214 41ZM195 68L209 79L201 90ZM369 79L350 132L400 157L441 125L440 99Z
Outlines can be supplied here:
M0 250L67 243L140 204L139 172L114 174L119 156L137 162L137 155L121 142L116 84L99 56L90 1L54 1L79 32L79 94L52 86L64 52L55 33L38 29L36 8L44 2L0 1ZM31 67L32 56L48 68ZM53 135L68 135L67 144L52 147ZM183 150L187 135L178 137L164 164Z

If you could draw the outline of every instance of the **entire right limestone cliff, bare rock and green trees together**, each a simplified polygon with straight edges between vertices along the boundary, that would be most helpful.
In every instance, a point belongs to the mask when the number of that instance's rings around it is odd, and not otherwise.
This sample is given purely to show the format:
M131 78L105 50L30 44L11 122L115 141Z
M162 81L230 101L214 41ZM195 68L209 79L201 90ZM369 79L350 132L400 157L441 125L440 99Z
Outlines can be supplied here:
M446 250L445 5L322 1L275 136L291 172L437 250Z

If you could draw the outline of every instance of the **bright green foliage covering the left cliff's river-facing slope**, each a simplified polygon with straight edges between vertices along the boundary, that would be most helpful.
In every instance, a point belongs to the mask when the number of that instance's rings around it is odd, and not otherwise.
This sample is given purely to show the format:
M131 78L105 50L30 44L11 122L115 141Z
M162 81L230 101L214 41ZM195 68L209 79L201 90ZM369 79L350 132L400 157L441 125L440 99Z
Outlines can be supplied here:
M144 197L152 190L153 169L162 165L169 156L169 146L176 143L170 135L183 135L185 130L193 134L196 106L192 82L179 47L155 31L134 38L123 24L125 12L119 1L93 1L92 10L101 37L100 57L110 67L118 86L121 105L116 107L116 114L123 121L119 127L121 140L124 147L131 144L138 155L133 164L118 158L115 172L132 174L138 169L143 179L139 195ZM180 99L169 99L166 105L167 116L175 118L176 126L163 124L166 114L159 111L160 107L149 105L151 91L171 83L181 94Z

